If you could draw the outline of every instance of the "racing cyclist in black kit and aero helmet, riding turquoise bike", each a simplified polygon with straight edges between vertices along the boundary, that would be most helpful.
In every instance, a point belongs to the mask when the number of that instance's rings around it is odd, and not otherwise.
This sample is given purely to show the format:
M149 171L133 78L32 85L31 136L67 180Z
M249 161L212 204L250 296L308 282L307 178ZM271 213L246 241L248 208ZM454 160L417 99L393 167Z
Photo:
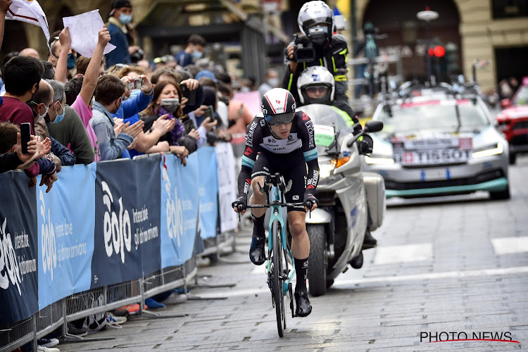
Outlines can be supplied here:
M319 203L313 195L319 180L313 123L306 113L295 112L294 96L286 89L274 88L264 94L261 108L263 116L256 116L247 128L246 149L238 179L239 197L232 203L232 207L237 213L238 206L246 208L249 187L253 189L249 203L265 203L266 196L260 192L257 184L263 185L265 175L279 172L286 183L291 180L291 189L284 194L286 201L297 203L302 199L304 205L288 207L288 224L297 275L296 315L306 317L311 313L312 306L306 289L310 239L306 232L305 218L306 212L317 208ZM242 213L245 211L242 210ZM266 258L265 212L265 208L251 209L253 239L249 258L255 265L262 265Z

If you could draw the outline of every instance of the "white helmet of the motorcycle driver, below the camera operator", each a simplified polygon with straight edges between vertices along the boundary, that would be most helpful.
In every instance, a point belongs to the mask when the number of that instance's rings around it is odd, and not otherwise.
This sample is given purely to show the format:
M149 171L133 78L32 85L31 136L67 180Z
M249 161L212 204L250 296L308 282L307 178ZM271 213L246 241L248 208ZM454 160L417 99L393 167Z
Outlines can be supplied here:
M327 93L320 98L310 98L306 89L318 89L318 87L327 87ZM334 75L330 73L325 66L310 66L303 70L297 80L297 92L301 103L303 104L326 104L329 105L334 101L335 80Z

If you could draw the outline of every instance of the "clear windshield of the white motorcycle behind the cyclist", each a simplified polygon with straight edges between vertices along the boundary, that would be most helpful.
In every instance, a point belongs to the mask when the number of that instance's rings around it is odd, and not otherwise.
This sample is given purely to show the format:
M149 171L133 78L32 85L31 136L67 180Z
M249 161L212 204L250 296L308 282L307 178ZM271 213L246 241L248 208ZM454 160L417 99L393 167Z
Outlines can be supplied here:
M332 144L335 139L332 137L333 131L331 130L331 127L334 127L338 132L338 146L341 145L342 139L346 137L348 133L353 131L351 118L334 106L310 104L301 106L297 110L303 111L306 115L310 116L310 119L315 126L315 143L318 148L318 153L320 154L327 153L327 146ZM326 136L328 138L325 138ZM332 148L332 150L335 149Z

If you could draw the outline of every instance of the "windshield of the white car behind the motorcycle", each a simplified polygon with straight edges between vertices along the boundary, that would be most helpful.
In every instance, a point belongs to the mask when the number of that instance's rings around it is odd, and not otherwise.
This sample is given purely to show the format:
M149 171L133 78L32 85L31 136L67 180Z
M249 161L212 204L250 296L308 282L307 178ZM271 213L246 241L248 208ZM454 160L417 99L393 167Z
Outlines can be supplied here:
M467 99L403 103L391 106L391 111L387 110L380 109L377 117L384 125L382 134L424 130L472 132L489 125L482 107Z

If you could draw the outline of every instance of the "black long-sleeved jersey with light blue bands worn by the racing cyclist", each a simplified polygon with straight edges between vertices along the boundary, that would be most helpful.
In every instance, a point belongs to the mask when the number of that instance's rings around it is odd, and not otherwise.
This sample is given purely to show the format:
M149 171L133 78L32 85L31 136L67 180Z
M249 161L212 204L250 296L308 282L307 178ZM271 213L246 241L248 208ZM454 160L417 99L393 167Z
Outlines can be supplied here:
M265 154L267 159L274 158L274 154L279 154L275 156L275 159L284 165L274 165L275 168L272 169L275 170L282 169L281 166L284 168L292 166L289 165L288 156L291 156L292 159L297 159L297 154L302 153L304 162L308 165L305 193L317 187L319 164L318 151L315 148L313 122L302 111L297 111L291 122L291 131L287 139L275 138L263 117L256 116L248 125L246 130L246 149L244 156L242 156L242 168L238 179L239 196L249 192L251 170L255 167L258 153ZM306 175L306 168L301 168L298 172Z

